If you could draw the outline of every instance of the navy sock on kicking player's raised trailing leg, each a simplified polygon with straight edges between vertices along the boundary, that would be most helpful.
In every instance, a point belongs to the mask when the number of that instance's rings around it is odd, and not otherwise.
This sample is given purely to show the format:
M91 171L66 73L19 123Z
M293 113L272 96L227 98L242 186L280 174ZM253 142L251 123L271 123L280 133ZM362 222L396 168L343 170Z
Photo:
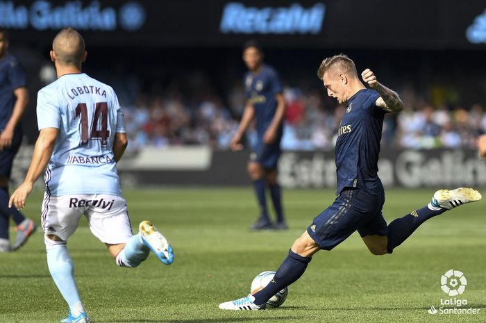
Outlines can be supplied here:
M388 253L391 254L395 247L398 247L403 241L410 237L420 224L426 222L430 217L435 217L445 211L445 208L440 210L430 210L428 206L424 206L424 208L393 220L388 224Z

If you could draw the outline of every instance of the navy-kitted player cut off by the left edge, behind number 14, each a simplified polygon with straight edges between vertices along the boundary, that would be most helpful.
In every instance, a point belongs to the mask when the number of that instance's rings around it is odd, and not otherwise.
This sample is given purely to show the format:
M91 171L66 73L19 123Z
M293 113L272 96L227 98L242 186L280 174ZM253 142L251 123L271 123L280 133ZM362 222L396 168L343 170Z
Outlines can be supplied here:
M37 227L19 210L8 207L10 172L22 142L20 118L28 103L28 92L24 70L7 48L8 34L0 29L0 252L11 250L8 239L10 217L17 224L14 250L21 247Z

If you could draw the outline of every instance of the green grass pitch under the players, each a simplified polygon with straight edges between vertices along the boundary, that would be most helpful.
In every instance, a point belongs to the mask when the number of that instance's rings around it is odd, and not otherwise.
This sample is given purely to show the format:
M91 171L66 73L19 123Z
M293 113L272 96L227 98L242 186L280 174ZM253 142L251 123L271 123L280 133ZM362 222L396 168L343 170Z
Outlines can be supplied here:
M387 221L424 206L433 190L387 190ZM292 242L334 198L332 190L285 190L290 230L250 232L251 188L126 190L137 224L152 220L174 246L170 266L153 255L135 269L115 265L85 219L69 240L76 279L93 322L486 322L486 202L461 206L422 225L394 254L373 256L357 233L315 255L290 286L282 307L224 311L218 304L246 296L253 277L276 270ZM39 220L42 192L25 213ZM15 233L12 233L15 235ZM446 270L464 272L461 299L478 315L430 315L449 297ZM0 322L58 322L67 315L47 270L42 233L22 249L0 254Z

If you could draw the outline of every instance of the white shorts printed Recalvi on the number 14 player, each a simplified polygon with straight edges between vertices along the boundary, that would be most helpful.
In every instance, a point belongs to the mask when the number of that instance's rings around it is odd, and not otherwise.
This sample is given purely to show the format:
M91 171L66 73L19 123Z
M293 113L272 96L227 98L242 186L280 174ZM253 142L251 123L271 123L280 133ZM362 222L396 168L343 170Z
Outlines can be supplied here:
M125 243L133 235L123 197L107 194L72 194L52 197L44 193L41 224L45 234L67 240L85 215L91 232L110 245Z

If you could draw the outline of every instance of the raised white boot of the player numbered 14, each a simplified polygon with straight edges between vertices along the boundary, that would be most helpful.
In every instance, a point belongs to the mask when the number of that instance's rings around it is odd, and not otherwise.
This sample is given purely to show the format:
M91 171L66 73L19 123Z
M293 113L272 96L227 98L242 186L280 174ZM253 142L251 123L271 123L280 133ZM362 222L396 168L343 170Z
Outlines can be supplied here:
M162 263L170 265L174 262L174 251L169 241L165 238L160 231L149 221L142 221L138 226L140 236L144 244L156 254Z

